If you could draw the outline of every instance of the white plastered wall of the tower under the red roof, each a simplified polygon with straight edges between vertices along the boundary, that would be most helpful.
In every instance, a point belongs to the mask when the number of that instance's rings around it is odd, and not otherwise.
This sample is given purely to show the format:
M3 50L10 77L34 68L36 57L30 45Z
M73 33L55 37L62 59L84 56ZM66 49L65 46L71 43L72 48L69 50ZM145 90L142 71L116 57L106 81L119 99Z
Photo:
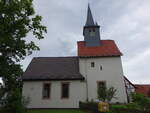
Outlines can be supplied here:
M91 67L91 62L95 62L94 68ZM87 77L89 101L97 100L97 81L106 81L107 87L117 89L117 99L112 102L127 102L120 57L80 58L79 64L81 74Z

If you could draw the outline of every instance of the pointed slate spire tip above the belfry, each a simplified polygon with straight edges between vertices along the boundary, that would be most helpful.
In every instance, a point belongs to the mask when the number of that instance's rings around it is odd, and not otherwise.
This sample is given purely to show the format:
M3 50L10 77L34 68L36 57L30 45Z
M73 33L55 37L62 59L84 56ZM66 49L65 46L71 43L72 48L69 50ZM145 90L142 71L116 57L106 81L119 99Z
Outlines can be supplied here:
M88 3L87 20L86 20L85 26L91 26L91 25L94 25L94 20L93 20L93 16L91 13L90 5Z

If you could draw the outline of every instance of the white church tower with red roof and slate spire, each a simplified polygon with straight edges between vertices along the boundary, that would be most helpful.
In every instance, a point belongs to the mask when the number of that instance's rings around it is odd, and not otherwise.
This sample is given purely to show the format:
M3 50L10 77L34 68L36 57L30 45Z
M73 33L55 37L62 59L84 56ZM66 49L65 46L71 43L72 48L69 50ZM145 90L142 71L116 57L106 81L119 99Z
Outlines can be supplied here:
M99 87L114 87L116 97L112 103L127 103L124 84L122 53L114 40L101 40L100 26L94 21L88 5L87 20L83 29L83 41L78 41L79 70L85 77L86 99L97 101Z

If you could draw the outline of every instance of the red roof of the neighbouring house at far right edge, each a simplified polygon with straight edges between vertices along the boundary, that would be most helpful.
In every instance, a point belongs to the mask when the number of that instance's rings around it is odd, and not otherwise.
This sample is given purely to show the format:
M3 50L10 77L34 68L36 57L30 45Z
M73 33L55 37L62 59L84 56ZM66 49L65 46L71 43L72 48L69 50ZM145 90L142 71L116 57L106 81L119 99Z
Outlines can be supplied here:
M135 91L150 96L150 84L135 84Z

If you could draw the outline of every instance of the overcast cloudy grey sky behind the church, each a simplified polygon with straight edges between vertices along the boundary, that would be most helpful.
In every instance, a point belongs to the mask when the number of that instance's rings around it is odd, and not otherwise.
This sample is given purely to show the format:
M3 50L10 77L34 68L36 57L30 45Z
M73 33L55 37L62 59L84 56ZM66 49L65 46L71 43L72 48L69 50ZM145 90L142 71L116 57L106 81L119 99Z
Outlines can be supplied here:
M124 75L133 83L150 84L150 0L89 0L101 38L115 40ZM88 0L34 0L36 13L47 26L41 50L22 61L24 70L33 57L75 56L83 40ZM28 35L31 38L32 35Z

